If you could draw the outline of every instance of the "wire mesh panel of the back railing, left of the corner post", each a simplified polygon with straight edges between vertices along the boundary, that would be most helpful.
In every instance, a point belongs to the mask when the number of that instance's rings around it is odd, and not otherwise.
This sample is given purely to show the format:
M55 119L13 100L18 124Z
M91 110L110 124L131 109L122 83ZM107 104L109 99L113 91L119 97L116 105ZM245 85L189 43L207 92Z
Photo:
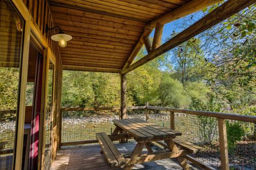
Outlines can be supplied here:
M61 142L95 140L97 132L111 134L119 119L119 110L83 110L62 112Z

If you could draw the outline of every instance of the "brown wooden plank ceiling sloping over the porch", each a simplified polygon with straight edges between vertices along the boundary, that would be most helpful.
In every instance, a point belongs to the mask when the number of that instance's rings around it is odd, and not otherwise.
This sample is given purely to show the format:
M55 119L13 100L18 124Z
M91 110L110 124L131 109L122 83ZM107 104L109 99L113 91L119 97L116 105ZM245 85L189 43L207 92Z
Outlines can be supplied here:
M150 21L189 0L49 0L64 69L119 72Z

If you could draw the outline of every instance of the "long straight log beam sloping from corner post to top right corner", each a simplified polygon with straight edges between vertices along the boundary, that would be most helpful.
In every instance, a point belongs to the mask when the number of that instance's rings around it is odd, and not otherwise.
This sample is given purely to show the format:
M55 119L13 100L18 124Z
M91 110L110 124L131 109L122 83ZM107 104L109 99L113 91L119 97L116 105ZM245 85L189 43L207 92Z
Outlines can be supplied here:
M209 14L198 20L196 23L194 23L193 25L191 25L190 27L188 27L172 39L168 40L157 49L153 50L150 54L141 58L131 66L122 69L121 74L126 74L127 72L130 72L135 68L138 68L139 66L155 59L156 57L164 54L165 52L189 40L190 38L193 38L196 35L211 28L212 26L217 25L217 23L227 19L233 14L236 14L242 9L254 4L255 2L256 0L229 0L225 2L220 7L216 8L214 11L210 12Z

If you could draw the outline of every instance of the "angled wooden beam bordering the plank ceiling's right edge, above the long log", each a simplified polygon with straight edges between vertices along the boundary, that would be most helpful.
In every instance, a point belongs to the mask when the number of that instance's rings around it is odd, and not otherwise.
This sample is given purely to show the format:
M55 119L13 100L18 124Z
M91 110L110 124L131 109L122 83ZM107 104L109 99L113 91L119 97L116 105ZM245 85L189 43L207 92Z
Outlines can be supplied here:
M145 30L144 30L142 36L140 37L139 41L137 42L136 46L134 47L133 52L131 53L129 59L126 61L122 70L124 70L125 68L129 67L132 64L134 58L137 56L137 54L140 51L140 48L143 45L143 38L148 37L151 34L153 29L156 27L156 23L161 23L162 25L164 25L165 23L182 18L186 15L197 12L197 11L204 9L206 7L209 7L211 5L217 4L221 1L222 0L207 0L207 1L193 0L193 1L190 1L190 2L182 5L179 8L176 8L175 10L170 11L169 13L153 20L152 22L148 23L148 25L145 27Z

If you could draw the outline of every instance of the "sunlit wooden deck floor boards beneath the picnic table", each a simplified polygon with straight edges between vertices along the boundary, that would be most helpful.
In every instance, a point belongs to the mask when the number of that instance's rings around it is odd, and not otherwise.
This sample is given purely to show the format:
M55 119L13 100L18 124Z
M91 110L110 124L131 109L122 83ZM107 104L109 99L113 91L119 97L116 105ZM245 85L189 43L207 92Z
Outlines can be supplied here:
M116 147L122 154L131 153L135 147L135 142L115 143ZM157 150L158 147L153 147ZM98 144L88 145L86 147L61 149L57 153L57 157L52 164L52 170L55 169L121 169L111 168L106 164L105 158L100 154L100 146ZM146 152L146 149L143 149ZM133 169L182 169L175 159L164 159L143 164L136 164Z

